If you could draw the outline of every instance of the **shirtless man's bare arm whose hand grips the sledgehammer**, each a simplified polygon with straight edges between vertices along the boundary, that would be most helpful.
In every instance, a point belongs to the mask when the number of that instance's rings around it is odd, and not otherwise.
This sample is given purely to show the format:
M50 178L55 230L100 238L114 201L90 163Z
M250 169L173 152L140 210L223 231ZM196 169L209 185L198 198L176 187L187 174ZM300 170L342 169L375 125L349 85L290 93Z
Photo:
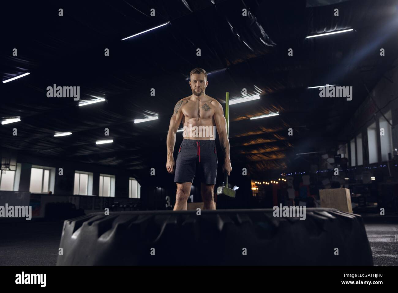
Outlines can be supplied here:
M217 132L220 137L220 145L222 152L224 153L224 165L222 166L222 171L227 172L228 176L232 170L231 159L229 157L229 140L228 134L226 132L226 120L224 117L224 110L219 102L213 101L211 104L214 106L214 121L216 124Z

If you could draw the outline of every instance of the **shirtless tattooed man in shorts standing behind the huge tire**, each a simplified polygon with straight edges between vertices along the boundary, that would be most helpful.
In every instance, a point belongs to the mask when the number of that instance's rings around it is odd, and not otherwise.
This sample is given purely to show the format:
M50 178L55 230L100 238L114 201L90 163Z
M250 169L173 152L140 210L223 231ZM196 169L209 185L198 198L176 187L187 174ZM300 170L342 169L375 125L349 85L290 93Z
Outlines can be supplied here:
M204 69L195 68L190 73L192 95L179 100L170 119L167 135L167 163L166 168L174 174L177 184L176 205L174 210L186 210L187 200L191 192L191 185L195 177L195 168L199 165L201 177L201 195L205 210L215 210L214 185L217 176L217 150L211 136L214 126L219 133L221 149L224 153L222 171L230 175L232 170L229 157L229 141L226 132L226 120L222 106L214 98L205 94L207 73ZM173 151L176 144L176 132L183 123L184 139L179 147L177 161L174 161ZM205 136L189 131L194 126L205 126L209 132ZM204 128L202 128L204 129ZM204 133L204 132L203 132ZM175 172L174 172L175 168Z

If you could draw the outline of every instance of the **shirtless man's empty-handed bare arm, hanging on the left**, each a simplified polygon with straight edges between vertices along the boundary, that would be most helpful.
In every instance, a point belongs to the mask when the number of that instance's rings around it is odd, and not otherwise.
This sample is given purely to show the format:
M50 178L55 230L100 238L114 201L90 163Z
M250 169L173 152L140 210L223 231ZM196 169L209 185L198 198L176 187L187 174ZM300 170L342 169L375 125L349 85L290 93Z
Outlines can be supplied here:
M172 118L170 119L169 132L167 134L167 163L166 168L170 174L174 173L174 145L176 144L176 133L178 130L178 126L181 123L183 114L182 114L182 105L184 100L179 100L176 106L174 107L174 113Z

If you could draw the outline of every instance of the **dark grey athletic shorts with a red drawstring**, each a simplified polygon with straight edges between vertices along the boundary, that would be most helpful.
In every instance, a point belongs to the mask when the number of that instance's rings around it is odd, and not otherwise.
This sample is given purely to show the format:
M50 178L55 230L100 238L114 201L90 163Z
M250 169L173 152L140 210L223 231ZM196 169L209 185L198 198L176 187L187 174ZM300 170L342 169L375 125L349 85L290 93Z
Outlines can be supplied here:
M181 142L176 159L174 182L193 182L199 167L202 183L216 184L217 149L214 140L186 140Z

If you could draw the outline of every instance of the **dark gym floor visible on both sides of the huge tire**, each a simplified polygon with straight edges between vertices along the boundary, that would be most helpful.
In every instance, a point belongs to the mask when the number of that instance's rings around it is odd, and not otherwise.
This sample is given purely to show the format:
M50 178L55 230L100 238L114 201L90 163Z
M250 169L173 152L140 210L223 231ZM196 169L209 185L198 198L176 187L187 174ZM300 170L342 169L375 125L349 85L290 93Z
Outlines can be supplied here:
M0 223L0 265L55 265L63 222ZM398 224L365 224L375 265L398 265Z

